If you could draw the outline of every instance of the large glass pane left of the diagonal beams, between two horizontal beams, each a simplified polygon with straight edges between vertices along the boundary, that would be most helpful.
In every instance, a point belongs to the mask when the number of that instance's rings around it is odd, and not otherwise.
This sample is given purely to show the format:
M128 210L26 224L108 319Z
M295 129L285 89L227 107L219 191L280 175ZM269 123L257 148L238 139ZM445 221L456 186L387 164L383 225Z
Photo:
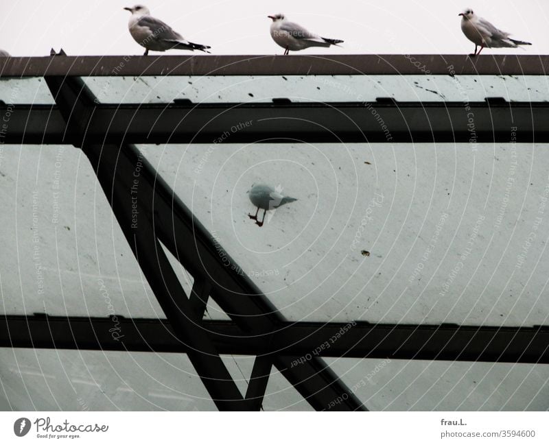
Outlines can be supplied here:
M0 313L163 318L80 149L2 147Z

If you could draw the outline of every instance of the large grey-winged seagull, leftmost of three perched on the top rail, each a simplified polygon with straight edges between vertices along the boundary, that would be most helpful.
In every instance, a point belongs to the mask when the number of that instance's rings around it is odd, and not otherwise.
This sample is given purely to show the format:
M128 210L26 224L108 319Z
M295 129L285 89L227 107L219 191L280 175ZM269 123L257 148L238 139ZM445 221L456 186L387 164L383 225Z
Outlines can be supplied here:
M210 47L185 40L172 27L152 17L146 6L135 5L133 8L124 9L132 13L128 22L128 28L134 40L145 48L143 56L147 56L149 50L165 51L166 49L189 49L190 51L199 49L200 51L209 53L206 50Z

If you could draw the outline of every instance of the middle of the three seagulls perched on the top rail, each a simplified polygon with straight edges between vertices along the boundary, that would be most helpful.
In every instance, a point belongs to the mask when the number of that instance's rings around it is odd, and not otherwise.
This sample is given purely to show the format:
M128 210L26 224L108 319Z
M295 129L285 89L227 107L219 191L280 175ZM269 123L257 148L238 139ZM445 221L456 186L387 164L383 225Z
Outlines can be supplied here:
M270 36L278 45L285 49L284 56L291 51L299 51L308 47L329 47L337 45L343 40L317 36L307 31L297 23L286 21L284 14L268 16L272 19L270 24Z

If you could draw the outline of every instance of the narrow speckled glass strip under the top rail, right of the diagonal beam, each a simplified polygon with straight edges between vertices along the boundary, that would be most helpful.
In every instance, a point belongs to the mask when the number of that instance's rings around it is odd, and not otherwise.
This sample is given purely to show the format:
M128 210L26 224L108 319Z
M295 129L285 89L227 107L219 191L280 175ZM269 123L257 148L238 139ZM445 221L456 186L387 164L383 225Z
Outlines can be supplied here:
M537 75L288 75L85 77L102 103L150 104L294 101L548 101L546 76Z

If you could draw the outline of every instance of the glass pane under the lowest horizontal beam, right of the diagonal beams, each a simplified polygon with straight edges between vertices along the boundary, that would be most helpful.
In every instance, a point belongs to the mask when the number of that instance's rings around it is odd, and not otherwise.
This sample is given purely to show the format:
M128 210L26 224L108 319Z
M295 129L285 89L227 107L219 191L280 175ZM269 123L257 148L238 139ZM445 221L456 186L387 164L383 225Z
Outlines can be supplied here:
M546 411L549 367L516 363L326 359L372 411Z

